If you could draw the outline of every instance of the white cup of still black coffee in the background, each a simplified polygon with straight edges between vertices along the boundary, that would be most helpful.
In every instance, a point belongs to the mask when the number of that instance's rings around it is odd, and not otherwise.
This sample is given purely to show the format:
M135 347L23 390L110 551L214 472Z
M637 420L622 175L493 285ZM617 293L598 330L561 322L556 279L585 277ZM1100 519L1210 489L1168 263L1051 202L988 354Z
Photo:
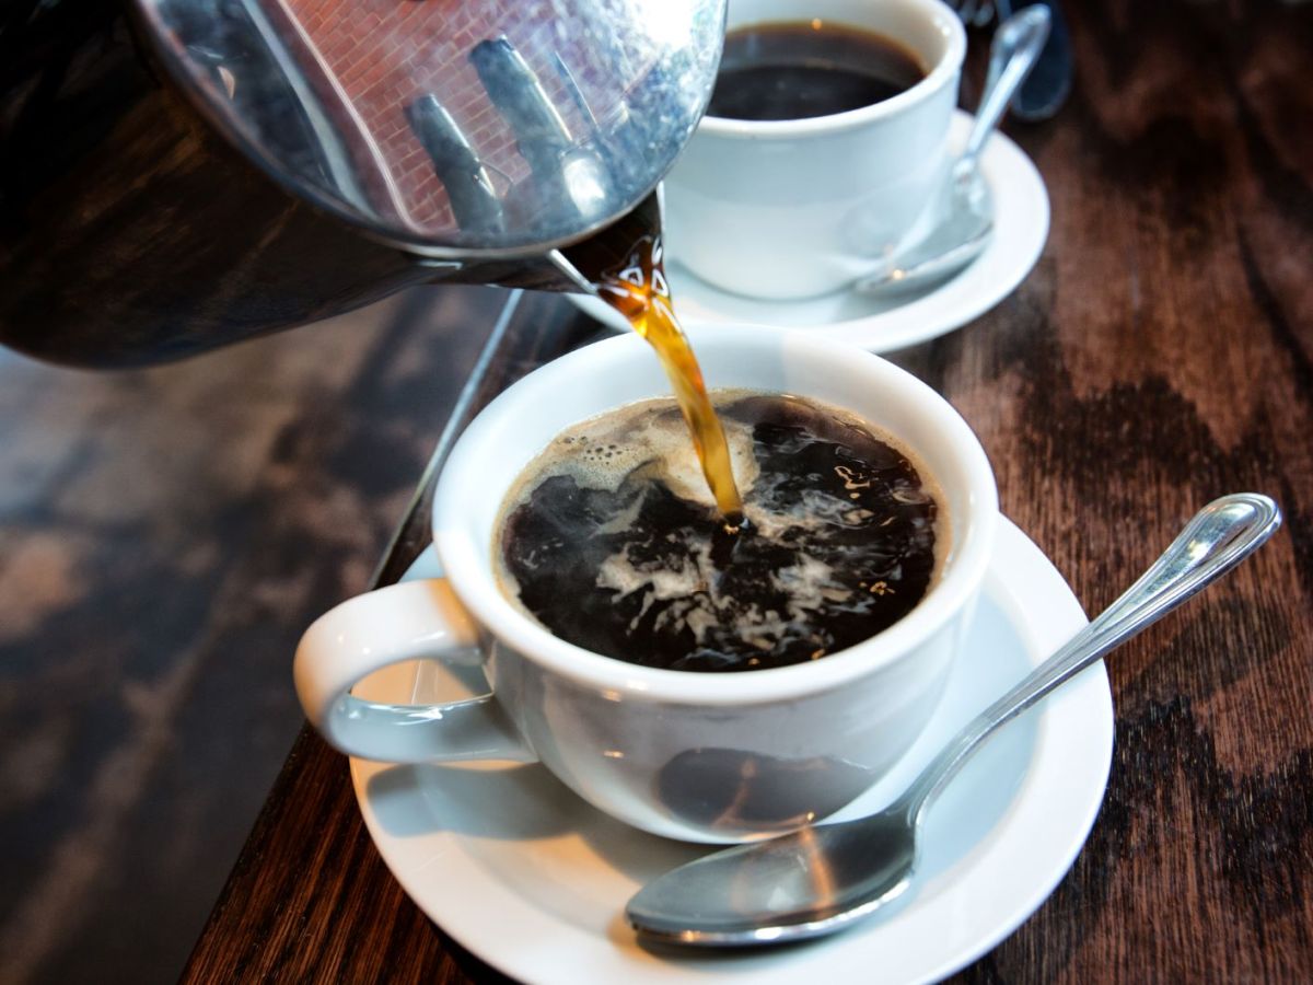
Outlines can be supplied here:
M730 0L729 30L821 20L889 38L926 77L807 120L704 117L666 176L667 256L727 292L825 294L869 273L913 230L947 168L966 38L939 0Z

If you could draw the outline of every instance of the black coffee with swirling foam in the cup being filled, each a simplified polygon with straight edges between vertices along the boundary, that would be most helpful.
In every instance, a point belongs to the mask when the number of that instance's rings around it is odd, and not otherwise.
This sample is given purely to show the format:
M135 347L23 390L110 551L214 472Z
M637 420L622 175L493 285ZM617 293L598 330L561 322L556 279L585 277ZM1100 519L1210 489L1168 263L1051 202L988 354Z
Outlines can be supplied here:
M561 433L503 506L504 592L553 634L650 667L819 659L934 582L941 496L894 439L811 401L721 394L746 524L706 492L679 410L645 401Z

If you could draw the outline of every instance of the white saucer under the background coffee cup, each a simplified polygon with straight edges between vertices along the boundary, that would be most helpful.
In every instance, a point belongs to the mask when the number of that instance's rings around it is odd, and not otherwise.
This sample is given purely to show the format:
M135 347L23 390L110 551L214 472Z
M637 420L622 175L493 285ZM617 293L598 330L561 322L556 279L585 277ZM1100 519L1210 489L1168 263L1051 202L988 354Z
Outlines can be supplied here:
M957 110L949 147L966 144L972 117ZM981 155L981 169L994 193L993 242L952 280L920 294L869 298L840 290L805 301L756 301L730 294L671 260L667 274L675 310L689 338L721 322L804 328L872 352L890 352L960 328L1006 298L1031 272L1049 235L1049 196L1044 179L1020 147L995 133ZM616 331L629 326L613 309L584 294L567 297Z

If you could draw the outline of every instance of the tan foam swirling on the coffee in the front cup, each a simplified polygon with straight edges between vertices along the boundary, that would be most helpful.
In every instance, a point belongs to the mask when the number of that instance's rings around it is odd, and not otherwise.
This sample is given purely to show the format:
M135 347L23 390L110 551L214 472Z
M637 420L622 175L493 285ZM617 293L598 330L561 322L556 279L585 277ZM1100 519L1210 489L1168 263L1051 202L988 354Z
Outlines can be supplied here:
M716 403L731 405L746 397L760 394L717 391ZM818 408L817 405L809 406ZM856 427L867 436L874 435L885 444L903 450L901 443L889 440L852 415L832 407L825 407L823 411L834 420ZM723 412L721 419L735 479L744 499L744 516L754 537L765 541L783 538L792 544L800 540L800 532L804 541L811 535L825 540L836 527L851 529L878 525L874 514L856 502L861 498L861 491L871 486L869 475L859 474L848 466L836 466L834 481L827 483L834 491L806 489L800 498L796 486L792 494L786 489L788 475L777 471L762 474L754 456L752 426ZM796 440L797 449L785 439L775 443L772 450L792 456L806 444L806 439ZM926 491L914 495L920 499L939 498L927 473L919 464L914 465L926 483ZM555 477L572 479L579 489L621 498L616 514L595 528L597 535L629 531L643 511L646 498L655 495L655 486L664 486L685 502L714 510L688 429L674 401L668 398L629 405L563 431L525 469L520 485L503 506L503 519ZM943 499L939 498L939 502ZM814 659L827 651L813 632L817 613L827 612L832 616L847 612L861 616L878 603L874 596L882 591L882 580L872 578L859 583L851 566L846 571L836 571L831 563L806 549L794 549L790 563L764 575L773 590L771 598L779 602L767 608L743 604L742 599L734 598L733 586L726 590L725 569L713 561L714 536L714 524L684 525L678 533L666 533L664 540L678 546L678 550L660 552L664 557L662 563L653 563L650 541L639 545L622 542L618 550L595 558L593 586L613 592L616 604L629 605L626 611L633 613L629 619L630 632L639 632L645 620L649 620L649 625L642 632L678 634L687 630L700 647L710 650L712 659L716 659L714 653L720 650L717 640L723 640L726 632L748 647L760 650L763 655L780 646L802 647L810 653L814 645ZM936 570L941 567L941 553L947 542L947 537L936 537L935 553L940 556L935 562ZM634 552L639 552L637 561ZM872 558L867 557L865 561L871 562ZM878 567L878 557L874 562ZM500 552L496 563L507 594L519 600L520 586L507 570ZM886 577L897 580L897 566L890 567ZM651 617L649 613L654 607L655 616ZM708 659L708 655L702 654L701 659ZM731 661L729 657L725 659L726 663ZM751 657L746 661L746 666L755 663L756 659Z

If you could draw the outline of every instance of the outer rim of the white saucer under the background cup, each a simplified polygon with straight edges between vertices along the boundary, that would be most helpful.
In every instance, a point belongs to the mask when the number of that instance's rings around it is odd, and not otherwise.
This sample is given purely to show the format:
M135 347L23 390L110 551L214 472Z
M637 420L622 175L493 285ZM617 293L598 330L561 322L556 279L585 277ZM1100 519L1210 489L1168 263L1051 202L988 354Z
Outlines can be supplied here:
M953 110L949 141L964 144L974 117ZM713 332L721 324L767 324L777 328L815 334L859 345L869 352L885 353L937 339L957 331L997 307L1029 276L1044 252L1049 238L1052 206L1048 185L1035 163L1007 134L997 130L981 152L981 173L994 194L997 206L995 234L983 252L961 273L943 284L915 294L906 302L874 314L834 320L800 319L793 323L754 319L748 313L716 310L705 298L741 301L730 292L701 280L691 268L671 260L678 273L696 281L688 303L692 310L681 315L684 328L696 340L699 334ZM994 269L997 268L997 269ZM981 274L981 272L987 272ZM684 280L680 277L680 280ZM972 280L981 282L972 288ZM964 288L962 285L966 285ZM964 290L969 290L962 296ZM851 288L831 296L847 296ZM628 331L617 323L605 305L591 296L566 294L586 315L613 332ZM775 306L802 309L823 298L798 298L771 302Z

